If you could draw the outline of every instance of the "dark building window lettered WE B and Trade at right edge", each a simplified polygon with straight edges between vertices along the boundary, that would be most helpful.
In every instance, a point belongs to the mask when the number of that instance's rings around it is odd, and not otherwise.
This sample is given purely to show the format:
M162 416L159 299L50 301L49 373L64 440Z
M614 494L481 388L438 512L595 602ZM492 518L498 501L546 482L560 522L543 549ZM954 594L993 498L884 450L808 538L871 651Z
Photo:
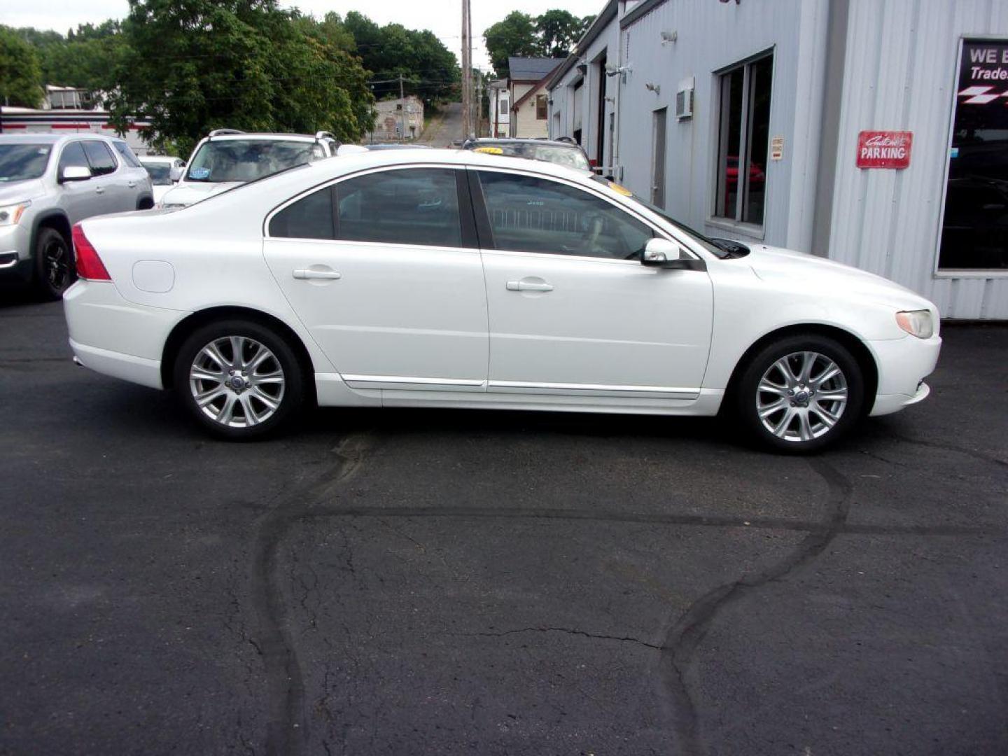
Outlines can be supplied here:
M1008 40L963 42L938 270L1008 270L1004 60Z

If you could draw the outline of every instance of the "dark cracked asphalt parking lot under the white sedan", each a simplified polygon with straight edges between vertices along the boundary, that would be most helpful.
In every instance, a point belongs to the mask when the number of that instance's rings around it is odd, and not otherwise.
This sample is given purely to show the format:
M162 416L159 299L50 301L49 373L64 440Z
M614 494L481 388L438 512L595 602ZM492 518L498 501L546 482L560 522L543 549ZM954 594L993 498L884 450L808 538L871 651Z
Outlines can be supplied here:
M0 753L1008 752L1008 328L808 459L477 411L229 445L3 296Z

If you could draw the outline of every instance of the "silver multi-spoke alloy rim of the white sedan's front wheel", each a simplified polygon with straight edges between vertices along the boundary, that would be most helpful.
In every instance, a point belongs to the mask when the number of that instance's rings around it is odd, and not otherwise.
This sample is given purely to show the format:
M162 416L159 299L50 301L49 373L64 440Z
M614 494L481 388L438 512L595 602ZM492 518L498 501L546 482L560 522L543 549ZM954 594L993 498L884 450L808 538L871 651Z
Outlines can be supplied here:
M794 352L767 368L756 388L763 427L786 442L830 432L847 407L847 378L818 352Z

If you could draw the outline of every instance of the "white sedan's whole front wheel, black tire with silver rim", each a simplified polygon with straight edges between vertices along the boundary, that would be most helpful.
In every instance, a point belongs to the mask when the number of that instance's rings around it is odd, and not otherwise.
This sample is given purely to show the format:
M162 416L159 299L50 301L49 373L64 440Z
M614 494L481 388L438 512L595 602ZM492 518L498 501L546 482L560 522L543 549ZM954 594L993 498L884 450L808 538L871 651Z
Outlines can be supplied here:
M804 353L818 356L809 363L810 381L802 380ZM818 384L820 377L829 375L831 362L840 374ZM761 383L764 378L766 382ZM865 379L850 350L835 339L815 334L791 336L752 356L734 399L739 418L760 444L806 454L836 443L858 423L865 405Z

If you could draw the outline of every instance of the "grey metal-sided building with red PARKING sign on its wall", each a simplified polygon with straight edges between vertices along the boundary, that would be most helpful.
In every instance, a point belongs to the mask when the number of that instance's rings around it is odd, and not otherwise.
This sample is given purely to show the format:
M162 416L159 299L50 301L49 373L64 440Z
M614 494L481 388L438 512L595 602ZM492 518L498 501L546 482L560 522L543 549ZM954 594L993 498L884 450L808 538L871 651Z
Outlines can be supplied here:
M1008 319L1008 2L612 0L546 88L687 226Z

